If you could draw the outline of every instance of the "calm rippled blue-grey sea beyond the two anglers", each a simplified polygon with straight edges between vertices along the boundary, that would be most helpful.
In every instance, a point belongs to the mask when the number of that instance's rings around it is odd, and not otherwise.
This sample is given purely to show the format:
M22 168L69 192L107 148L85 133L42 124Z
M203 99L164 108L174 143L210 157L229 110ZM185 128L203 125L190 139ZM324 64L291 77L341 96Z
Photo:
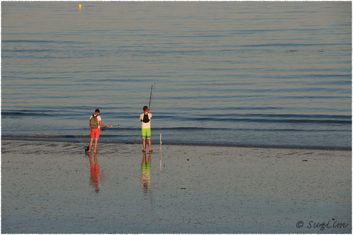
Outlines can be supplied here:
M78 4L82 7L79 8ZM352 2L1 2L1 138L351 149Z

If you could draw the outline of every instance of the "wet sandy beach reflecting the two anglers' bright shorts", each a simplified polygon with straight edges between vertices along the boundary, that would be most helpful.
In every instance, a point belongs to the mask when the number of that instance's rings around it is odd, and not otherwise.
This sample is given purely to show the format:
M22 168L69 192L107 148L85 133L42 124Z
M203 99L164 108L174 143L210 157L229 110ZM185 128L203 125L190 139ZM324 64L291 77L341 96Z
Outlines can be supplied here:
M1 233L352 232L352 151L84 145L1 141Z

